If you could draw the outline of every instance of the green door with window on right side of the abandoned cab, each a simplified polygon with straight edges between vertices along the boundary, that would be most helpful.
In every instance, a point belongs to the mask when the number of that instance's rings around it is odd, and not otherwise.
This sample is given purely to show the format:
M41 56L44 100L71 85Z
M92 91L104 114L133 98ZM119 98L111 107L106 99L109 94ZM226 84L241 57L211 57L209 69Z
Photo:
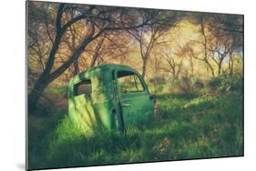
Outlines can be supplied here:
M124 127L141 125L154 115L154 100L140 75L118 71L118 96Z

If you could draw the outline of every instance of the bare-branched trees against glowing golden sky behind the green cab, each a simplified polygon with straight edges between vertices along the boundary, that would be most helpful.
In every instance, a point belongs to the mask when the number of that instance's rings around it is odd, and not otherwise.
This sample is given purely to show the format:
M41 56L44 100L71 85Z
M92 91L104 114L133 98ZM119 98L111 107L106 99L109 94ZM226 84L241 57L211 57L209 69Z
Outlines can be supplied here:
M190 78L242 75L241 15L27 4L29 111L46 88L66 86L77 73L106 63L131 65L154 87L181 80L185 92Z

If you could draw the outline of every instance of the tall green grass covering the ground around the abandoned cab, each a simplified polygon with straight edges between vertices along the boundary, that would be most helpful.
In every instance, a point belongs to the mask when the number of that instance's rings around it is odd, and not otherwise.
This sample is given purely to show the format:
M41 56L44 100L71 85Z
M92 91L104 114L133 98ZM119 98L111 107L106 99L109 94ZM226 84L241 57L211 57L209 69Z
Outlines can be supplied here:
M162 95L147 128L88 136L65 111L29 118L29 168L179 160L243 155L243 108L238 93Z

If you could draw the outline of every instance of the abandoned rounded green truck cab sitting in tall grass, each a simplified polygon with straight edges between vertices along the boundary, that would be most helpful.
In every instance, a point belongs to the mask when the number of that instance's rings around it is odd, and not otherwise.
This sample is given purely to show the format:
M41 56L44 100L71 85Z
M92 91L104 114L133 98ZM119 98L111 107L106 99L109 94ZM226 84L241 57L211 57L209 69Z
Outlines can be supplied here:
M98 65L68 84L68 115L85 129L125 130L154 116L155 100L128 65Z

